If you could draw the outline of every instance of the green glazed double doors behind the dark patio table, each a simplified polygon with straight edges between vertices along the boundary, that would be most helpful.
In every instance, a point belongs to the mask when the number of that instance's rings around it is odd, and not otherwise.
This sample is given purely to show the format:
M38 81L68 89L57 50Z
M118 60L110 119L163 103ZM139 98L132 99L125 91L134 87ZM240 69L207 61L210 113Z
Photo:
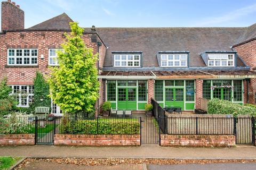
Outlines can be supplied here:
M184 89L166 88L165 89L165 107L179 106L184 110Z

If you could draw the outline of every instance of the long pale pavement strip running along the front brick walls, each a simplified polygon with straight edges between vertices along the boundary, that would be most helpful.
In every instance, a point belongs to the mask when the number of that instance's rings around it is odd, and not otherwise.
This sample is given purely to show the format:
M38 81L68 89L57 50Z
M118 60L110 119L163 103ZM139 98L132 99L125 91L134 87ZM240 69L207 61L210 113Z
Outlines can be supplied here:
M140 147L2 146L0 156L83 158L256 159L256 147L172 148Z

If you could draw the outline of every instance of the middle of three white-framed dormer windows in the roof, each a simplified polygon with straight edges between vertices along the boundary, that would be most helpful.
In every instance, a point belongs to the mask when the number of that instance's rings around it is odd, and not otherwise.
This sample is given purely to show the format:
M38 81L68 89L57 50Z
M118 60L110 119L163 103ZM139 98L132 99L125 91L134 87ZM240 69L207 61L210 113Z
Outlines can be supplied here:
M187 67L187 54L161 54L162 67Z

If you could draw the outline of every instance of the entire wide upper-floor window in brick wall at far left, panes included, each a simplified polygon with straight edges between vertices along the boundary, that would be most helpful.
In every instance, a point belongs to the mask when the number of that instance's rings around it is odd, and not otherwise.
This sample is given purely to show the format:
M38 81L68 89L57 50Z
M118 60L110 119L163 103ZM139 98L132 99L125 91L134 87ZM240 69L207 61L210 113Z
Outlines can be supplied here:
M7 65L37 65L37 49L7 49Z

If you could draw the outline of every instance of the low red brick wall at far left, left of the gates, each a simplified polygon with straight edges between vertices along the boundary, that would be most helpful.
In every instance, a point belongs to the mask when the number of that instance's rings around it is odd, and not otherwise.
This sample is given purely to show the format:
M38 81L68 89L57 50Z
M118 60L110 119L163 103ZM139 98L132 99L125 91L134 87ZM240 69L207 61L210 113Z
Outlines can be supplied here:
M35 134L0 134L0 145L35 145Z

